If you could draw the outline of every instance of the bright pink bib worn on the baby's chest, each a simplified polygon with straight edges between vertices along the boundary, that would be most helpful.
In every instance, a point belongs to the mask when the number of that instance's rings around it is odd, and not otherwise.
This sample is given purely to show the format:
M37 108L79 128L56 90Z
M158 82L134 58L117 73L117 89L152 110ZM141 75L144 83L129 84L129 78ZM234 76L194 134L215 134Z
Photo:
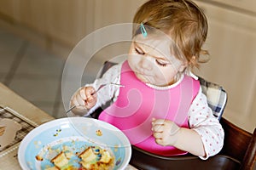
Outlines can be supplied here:
M137 79L128 62L122 65L118 99L99 119L122 130L131 144L162 156L182 155L187 152L173 146L161 146L154 142L152 118L168 119L180 127L189 127L189 107L198 94L200 83L192 77L184 76L174 88L157 90L149 88Z

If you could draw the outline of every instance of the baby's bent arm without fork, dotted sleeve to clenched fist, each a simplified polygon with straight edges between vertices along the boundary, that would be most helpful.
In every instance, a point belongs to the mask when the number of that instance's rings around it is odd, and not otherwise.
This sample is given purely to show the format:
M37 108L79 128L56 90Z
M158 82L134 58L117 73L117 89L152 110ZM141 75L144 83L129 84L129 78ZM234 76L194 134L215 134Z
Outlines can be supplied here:
M207 98L201 93L195 97L189 109L189 127L177 127L168 120L153 122L154 138L161 145L173 145L180 150L207 159L222 149L224 131L218 119L212 115Z

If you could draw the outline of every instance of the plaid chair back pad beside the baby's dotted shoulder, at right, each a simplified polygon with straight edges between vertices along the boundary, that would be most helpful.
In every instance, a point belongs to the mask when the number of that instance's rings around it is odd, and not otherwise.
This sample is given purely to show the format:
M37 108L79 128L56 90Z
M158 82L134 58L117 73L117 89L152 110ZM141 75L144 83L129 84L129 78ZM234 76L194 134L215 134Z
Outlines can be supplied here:
M202 93L207 96L207 103L214 116L220 120L227 103L227 93L224 88L213 82L207 82L199 77Z

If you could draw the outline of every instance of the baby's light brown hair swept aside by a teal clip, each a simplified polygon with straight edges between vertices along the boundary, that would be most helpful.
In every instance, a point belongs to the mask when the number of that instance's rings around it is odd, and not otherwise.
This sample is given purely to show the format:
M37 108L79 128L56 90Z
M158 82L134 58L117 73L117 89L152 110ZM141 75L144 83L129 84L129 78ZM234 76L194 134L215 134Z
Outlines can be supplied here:
M164 31L181 50L190 68L206 62L200 56L208 54L202 49L207 39L207 17L195 3L189 0L149 0L138 8L133 23L137 24L133 27L133 37L138 34L141 23L147 31L148 27Z

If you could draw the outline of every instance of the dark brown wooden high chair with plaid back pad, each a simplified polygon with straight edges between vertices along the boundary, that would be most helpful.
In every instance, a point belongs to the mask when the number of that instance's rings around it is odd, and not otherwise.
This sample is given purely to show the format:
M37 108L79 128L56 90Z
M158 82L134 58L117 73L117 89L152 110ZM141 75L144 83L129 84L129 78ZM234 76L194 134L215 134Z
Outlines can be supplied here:
M106 61L101 72L102 75L116 63ZM208 105L212 113L224 128L224 147L216 156L206 161L190 154L184 156L159 156L141 150L132 145L130 164L138 169L255 169L256 159L256 129L253 133L237 127L222 117L227 101L227 94L218 84L207 82L199 77L203 94L207 96ZM96 110L91 116L97 118L102 109Z

